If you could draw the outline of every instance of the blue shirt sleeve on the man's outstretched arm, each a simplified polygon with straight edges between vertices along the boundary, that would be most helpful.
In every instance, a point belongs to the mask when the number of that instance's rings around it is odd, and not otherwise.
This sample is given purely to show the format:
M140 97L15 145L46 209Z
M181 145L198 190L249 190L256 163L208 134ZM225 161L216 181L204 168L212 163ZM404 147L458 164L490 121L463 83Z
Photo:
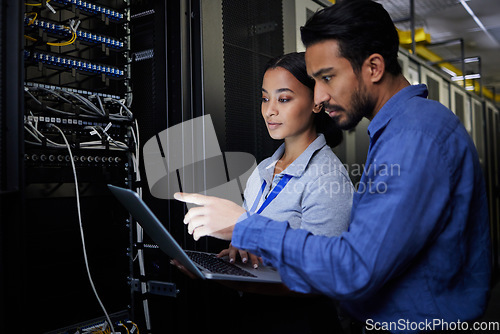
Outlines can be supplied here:
M446 154L419 131L405 130L372 149L376 164L365 166L348 232L314 236L252 215L236 224L233 245L264 257L298 292L339 300L377 292L443 228L450 174Z

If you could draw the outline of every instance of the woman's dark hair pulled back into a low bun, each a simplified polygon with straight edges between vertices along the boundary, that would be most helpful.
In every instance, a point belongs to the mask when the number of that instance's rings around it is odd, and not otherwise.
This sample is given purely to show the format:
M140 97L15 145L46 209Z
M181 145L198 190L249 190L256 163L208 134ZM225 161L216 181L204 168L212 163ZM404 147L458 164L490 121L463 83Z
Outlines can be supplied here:
M310 89L311 95L314 95L314 79L307 74L306 60L304 52L292 52L271 59L264 73L269 69L282 67L290 72L300 83ZM323 111L314 114L314 125L316 132L322 133L325 136L326 143L330 147L335 147L342 142L343 133L335 122Z

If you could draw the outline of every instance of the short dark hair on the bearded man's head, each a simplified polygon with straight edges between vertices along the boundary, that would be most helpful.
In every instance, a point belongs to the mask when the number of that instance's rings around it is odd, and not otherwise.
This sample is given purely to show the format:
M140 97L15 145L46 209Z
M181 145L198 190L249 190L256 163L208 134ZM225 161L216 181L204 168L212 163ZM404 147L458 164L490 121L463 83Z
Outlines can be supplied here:
M384 57L385 70L401 73L398 63L399 36L391 17L381 4L371 0L342 0L318 11L300 28L306 46L336 40L340 56L359 73L370 55Z

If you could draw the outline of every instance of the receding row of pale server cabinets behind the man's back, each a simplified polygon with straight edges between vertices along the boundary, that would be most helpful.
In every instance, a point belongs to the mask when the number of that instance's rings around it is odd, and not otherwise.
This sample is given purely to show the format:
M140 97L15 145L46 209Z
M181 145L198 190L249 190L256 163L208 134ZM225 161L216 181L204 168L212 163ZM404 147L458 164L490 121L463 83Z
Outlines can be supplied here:
M481 97L480 91L468 90L462 82L450 80L450 77L441 70L426 64L406 50L401 50L399 59L410 83L425 83L429 90L428 98L450 108L462 121L476 146L488 197L493 282L498 282L500 274L500 110L498 105L495 101Z

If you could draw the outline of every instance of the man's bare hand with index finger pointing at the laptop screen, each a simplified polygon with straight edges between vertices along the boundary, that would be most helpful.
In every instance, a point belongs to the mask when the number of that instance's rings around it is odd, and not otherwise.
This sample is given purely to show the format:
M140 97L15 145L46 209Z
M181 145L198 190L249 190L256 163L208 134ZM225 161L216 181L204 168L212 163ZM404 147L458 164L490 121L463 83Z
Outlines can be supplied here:
M236 221L245 213L238 204L218 197L175 193L174 198L199 205L191 208L184 217L184 224L188 225L188 232L194 240L204 236L231 240Z

